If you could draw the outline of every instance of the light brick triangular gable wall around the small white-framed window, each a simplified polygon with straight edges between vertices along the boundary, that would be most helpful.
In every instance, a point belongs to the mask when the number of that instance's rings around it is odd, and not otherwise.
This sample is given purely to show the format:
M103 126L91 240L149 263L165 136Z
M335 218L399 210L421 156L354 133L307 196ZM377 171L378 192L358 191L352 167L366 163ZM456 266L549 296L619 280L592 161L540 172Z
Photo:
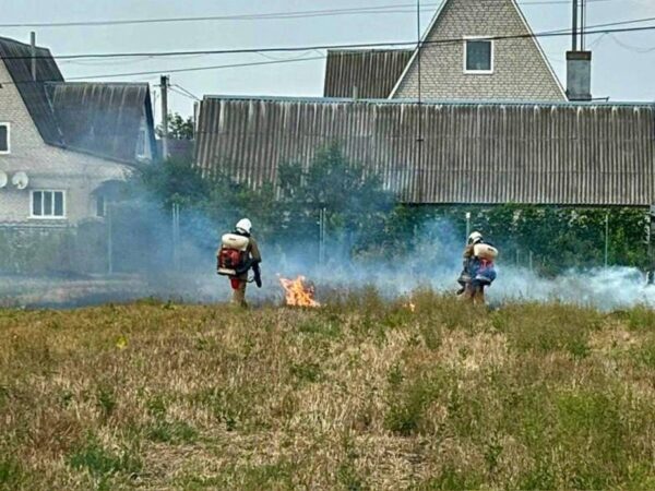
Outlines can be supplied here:
M467 36L524 35L528 31L512 0L449 0L421 50L421 96L437 99L565 100L555 75L532 38L495 40L491 74L464 73L464 43L438 44ZM564 53L562 52L562 58ZM393 97L418 96L416 59Z

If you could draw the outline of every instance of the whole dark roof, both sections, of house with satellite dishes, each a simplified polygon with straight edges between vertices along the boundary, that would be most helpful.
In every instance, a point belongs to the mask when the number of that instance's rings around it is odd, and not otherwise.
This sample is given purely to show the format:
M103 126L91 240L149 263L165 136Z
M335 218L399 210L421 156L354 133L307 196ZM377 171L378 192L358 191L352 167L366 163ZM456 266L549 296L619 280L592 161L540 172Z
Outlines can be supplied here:
M156 147L148 84L64 82L46 48L36 51L35 82L31 55L29 45L0 37L0 58L46 143L133 164L145 115Z

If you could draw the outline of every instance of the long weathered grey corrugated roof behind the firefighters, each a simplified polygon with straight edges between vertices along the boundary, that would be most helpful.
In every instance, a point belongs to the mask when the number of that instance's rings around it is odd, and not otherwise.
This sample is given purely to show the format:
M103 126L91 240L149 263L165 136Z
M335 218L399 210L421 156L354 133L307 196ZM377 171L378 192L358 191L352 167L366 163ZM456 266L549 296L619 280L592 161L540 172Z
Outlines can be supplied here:
M258 187L330 142L407 203L655 203L655 106L645 104L205 97L195 161Z

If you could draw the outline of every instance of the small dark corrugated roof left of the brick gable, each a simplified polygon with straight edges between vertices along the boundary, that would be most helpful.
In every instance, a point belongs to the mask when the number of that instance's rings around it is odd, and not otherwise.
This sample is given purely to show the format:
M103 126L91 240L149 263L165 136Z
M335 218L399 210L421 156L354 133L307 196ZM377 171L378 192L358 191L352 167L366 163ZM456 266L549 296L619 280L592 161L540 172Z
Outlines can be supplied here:
M400 79L412 50L329 50L325 97L353 97L357 87L364 99L386 98Z

